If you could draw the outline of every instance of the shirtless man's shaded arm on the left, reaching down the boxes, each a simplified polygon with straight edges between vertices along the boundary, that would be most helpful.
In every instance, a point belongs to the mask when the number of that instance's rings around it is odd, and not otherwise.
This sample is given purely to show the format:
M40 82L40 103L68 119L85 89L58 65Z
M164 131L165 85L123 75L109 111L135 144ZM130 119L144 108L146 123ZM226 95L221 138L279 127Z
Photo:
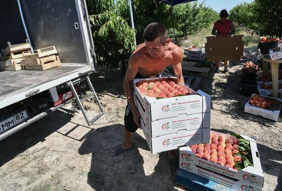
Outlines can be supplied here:
M140 114L136 108L136 105L134 103L134 98L133 98L133 88L132 88L132 81L138 71L138 56L136 55L136 53L133 53L129 59L129 66L128 69L126 71L126 75L125 75L125 80L124 80L124 90L125 90L125 95L126 98L129 102L129 105L131 107L131 111L133 113L133 119L134 122L136 123L136 125L140 128L140 124L139 124L139 117Z

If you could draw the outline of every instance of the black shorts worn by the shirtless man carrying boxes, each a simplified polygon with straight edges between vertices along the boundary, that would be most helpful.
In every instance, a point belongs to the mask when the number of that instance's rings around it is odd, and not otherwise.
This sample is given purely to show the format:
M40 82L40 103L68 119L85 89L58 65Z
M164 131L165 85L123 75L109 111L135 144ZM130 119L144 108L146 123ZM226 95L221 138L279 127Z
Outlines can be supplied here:
M145 78L139 72L137 72L134 79ZM129 132L135 132L138 129L138 126L133 120L133 113L131 111L130 104L127 102L127 106L125 108L125 129Z

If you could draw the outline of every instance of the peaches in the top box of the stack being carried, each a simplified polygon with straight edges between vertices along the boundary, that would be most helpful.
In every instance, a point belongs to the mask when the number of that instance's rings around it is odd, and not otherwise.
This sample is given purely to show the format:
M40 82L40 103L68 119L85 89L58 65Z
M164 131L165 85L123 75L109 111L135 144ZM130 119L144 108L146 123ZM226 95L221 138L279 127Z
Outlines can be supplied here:
M177 85L171 80L150 82L149 84L144 82L137 85L137 88L143 96L152 98L172 98L190 94L188 89Z

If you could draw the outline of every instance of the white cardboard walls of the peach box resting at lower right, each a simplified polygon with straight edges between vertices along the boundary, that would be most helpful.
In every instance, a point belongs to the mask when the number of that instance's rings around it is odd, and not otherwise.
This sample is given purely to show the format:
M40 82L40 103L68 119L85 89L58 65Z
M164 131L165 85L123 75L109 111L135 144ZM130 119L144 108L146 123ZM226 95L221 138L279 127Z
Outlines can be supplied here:
M224 136L225 138L235 138L234 136L220 132L211 131L211 133L217 136ZM248 189L248 186L252 186L253 190L261 190L261 187L264 186L264 174L258 157L256 141L247 136L241 137L250 141L254 166L247 166L237 171L197 158L190 147L181 147L179 148L179 168L234 189L242 190L244 188L243 190L251 190Z

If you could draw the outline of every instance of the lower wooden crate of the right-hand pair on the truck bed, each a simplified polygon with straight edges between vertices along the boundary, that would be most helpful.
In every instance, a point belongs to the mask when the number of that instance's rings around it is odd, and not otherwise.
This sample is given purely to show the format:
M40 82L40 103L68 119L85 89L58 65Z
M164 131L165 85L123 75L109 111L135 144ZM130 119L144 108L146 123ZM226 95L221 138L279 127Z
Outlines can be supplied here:
M52 57L55 55L52 55L52 56L48 56L48 57ZM39 60L39 63L40 64L36 64L36 65L24 65L25 69L26 70L48 70L48 69L51 69L51 68L54 68L54 67L57 67L57 66L61 66L61 61L59 60L59 56L55 56L55 60L50 60L47 61L46 59L44 60L45 58L41 58L41 59L36 59ZM24 61L24 60L23 60Z

